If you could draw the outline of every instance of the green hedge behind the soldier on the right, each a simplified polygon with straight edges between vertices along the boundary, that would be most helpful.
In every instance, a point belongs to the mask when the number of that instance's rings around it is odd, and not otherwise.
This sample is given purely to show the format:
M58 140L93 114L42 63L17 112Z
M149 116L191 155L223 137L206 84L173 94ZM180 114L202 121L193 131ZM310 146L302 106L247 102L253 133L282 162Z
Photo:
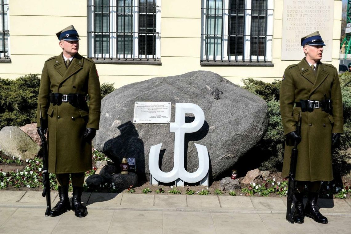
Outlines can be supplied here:
M351 147L351 73L339 76L343 96L344 134L340 142L333 149L333 164L339 175L350 173L351 161L348 149ZM263 98L268 105L269 126L263 139L250 151L250 154L259 154L259 168L271 172L281 171L284 153L284 131L279 109L280 81L272 83L247 78L243 80L243 88Z

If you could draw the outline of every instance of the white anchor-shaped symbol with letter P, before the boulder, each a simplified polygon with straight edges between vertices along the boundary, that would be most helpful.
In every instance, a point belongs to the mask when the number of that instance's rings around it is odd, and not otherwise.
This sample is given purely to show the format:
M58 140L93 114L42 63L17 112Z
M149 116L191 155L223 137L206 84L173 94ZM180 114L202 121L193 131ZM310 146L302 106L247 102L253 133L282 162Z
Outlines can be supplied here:
M191 123L185 122L185 113L192 113L194 121ZM170 132L174 132L174 165L170 172L163 172L160 170L158 162L162 143L151 146L149 154L149 169L150 169L150 183L154 184L155 180L160 182L173 182L177 184L179 180L188 183L202 182L202 185L208 185L208 168L210 166L208 159L208 152L206 146L195 143L198 157L199 167L196 172L187 172L184 168L184 139L185 133L192 133L198 131L204 124L205 115L203 110L193 103L176 103L176 119L170 124ZM206 176L206 178L205 178ZM201 183L200 182L200 183ZM184 183L183 183L184 185Z

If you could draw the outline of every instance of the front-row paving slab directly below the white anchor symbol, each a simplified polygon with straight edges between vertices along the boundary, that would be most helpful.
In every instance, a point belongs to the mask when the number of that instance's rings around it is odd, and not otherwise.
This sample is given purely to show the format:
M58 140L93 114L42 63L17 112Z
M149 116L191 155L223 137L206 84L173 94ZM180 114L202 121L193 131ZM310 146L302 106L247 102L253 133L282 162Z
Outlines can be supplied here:
M163 233L216 233L210 212L163 212Z

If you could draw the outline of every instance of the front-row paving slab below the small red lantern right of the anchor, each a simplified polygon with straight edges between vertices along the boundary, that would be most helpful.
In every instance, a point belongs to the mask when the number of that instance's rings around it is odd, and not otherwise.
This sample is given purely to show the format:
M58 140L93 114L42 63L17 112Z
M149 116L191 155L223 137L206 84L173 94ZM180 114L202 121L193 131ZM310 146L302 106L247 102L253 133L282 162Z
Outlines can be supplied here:
M217 233L269 234L258 214L212 213Z

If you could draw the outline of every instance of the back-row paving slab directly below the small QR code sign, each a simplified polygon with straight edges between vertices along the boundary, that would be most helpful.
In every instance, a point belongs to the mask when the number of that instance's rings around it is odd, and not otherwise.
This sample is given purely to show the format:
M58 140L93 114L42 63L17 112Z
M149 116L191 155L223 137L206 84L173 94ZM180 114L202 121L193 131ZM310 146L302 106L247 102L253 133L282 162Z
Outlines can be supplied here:
M154 195L123 193L121 207L153 207Z

